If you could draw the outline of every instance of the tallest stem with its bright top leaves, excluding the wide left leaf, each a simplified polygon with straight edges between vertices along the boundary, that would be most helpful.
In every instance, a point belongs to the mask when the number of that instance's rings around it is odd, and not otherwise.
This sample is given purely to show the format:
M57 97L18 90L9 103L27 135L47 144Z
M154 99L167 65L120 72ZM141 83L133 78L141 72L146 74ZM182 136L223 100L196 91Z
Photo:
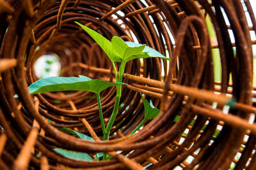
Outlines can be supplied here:
M100 35L96 31L93 31L89 27L86 27L83 24L80 24L79 22L76 22L76 24L82 27L84 31L86 31L98 43L102 50L106 52L113 65L116 82L122 82L125 64L129 60L149 57L160 57L162 59L170 60L161 53L154 50L153 48L150 48L149 46L141 45L139 43L125 42L122 38L118 36L113 36L111 41L109 41L108 39L104 38L104 36ZM118 74L116 71L115 62L121 62L120 67L118 69ZM104 140L109 139L109 133L111 131L116 115L118 113L121 94L122 86L116 85L116 101L113 108L113 112L111 114L111 117L109 118L109 122L106 127L106 131L108 133L103 136ZM104 157L103 160L106 160L106 157Z

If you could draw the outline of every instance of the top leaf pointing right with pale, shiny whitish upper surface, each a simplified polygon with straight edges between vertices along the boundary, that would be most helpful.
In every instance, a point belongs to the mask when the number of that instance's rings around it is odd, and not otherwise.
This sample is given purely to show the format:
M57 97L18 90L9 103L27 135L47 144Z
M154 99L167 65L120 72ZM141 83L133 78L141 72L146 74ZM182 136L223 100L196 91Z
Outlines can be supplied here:
M130 47L141 46L140 43L134 43L134 42L131 42L131 41L125 41L125 43ZM131 59L150 58L150 57L160 57L162 59L170 60L169 58L165 57L163 54L157 52L157 50L154 50L153 48L151 48L149 46L145 46L141 55L133 56Z

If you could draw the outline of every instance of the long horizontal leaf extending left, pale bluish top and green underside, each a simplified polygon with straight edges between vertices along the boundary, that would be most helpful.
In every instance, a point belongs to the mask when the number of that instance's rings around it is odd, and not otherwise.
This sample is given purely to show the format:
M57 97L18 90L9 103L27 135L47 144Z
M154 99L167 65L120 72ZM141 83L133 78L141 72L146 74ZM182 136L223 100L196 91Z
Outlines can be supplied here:
M42 78L28 87L30 94L67 90L84 90L99 94L102 90L124 83L110 83L103 80L92 80L86 76Z

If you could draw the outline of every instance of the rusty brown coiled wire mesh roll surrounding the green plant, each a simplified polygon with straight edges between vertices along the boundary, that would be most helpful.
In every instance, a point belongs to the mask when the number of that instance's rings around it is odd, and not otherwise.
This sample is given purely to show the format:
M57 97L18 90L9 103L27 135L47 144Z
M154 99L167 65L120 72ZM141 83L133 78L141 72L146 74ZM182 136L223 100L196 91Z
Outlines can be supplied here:
M214 25L214 43L207 16ZM250 36L256 21L248 0L5 0L0 1L0 20L0 169L256 168L255 41ZM97 101L90 92L28 94L28 85L38 79L36 59L49 53L59 56L61 76L115 81L106 54L74 21L108 39L115 35L145 43L171 59L127 64L122 107L109 141L100 141ZM221 81L214 81L214 48L220 52ZM129 136L144 116L140 93L162 112ZM108 122L115 88L101 95ZM227 111L225 105L234 106ZM62 127L95 141L61 132ZM68 159L52 150L56 147L90 155L108 152L111 159Z

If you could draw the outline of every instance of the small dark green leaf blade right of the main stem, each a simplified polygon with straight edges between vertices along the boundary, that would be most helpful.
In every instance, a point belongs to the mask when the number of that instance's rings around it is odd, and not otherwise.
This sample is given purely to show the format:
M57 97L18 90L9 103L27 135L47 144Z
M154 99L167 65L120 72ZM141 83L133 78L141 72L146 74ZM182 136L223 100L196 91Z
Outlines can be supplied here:
M148 103L147 99L144 99L141 96L141 99L143 101L144 104L144 108L145 108L145 119L150 119L150 118L155 118L157 117L157 115L161 112L161 110L157 109L154 107L152 101L150 101L150 103Z

